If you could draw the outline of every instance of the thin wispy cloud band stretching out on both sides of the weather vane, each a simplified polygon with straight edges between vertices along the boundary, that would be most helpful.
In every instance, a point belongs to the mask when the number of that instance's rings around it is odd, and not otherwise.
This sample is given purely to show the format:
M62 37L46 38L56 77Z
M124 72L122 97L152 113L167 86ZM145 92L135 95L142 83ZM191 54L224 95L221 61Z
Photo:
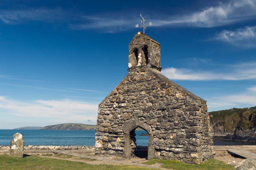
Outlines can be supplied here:
M219 3L218 6L209 6L197 11L188 11L180 15L148 16L152 22L151 26L183 26L183 27L217 27L237 22L244 22L256 18L255 0L231 0L228 3ZM132 14L131 16L133 16ZM84 16L82 23L74 24L74 29L106 29L106 31L122 31L132 28L137 23L137 17L113 18L106 15L104 17ZM84 23L83 23L84 22ZM114 27L113 27L114 26ZM116 29L115 29L116 28Z

